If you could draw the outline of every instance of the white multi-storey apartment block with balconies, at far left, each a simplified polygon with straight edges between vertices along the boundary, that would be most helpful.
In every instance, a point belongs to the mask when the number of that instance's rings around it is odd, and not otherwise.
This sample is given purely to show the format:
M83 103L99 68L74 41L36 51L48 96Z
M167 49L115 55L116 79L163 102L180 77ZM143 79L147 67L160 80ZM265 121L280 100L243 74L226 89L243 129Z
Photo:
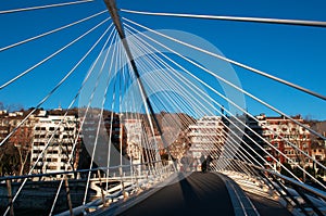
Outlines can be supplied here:
M77 138L78 119L74 115L42 115L34 127L30 164L33 173L55 173L73 170L77 167L78 156L68 163ZM38 161L38 162L37 162ZM37 162L37 164L36 164Z

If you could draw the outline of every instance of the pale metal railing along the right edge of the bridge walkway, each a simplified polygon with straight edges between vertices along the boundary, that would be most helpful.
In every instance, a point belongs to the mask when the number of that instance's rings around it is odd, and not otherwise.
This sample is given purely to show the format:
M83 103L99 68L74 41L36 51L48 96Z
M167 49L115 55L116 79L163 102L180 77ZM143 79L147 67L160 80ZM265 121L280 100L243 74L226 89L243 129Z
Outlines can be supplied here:
M235 179L240 186L244 185L243 181L248 181L248 185L253 183L261 189L263 189L263 186L267 186L293 214L326 215L326 191L284 176L276 170L266 169L239 160L231 161L234 164L238 164L239 167L244 167L243 171L240 169L218 171L234 179L235 176L240 176L241 178ZM246 190L246 186L242 188Z

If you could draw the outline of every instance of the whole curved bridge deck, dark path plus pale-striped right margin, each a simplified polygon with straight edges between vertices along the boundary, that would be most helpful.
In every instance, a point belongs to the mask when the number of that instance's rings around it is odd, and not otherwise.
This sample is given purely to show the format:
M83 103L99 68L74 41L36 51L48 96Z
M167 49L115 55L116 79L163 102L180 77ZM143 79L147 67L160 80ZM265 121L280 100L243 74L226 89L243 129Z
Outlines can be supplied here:
M180 176L179 181L154 189L151 194L145 194L140 200L142 201L134 202L130 207L127 207L126 201L124 207L121 205L109 207L97 211L93 215L290 215L279 203L254 194L246 194L230 178L215 173L192 173L187 178ZM118 209L120 207L123 209Z

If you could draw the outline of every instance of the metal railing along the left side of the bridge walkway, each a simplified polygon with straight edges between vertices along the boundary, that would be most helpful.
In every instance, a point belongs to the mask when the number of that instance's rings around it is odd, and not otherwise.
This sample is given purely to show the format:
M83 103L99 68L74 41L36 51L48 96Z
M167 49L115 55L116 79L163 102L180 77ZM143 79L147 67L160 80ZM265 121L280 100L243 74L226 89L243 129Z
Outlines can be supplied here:
M96 191L96 195L93 195L92 201L84 205L79 205L77 207L73 207L71 195L76 191L71 191L75 185L79 187L86 186L87 174L91 171L92 178L90 179L91 183L89 185L89 189ZM20 188L20 183L24 180L28 180L32 188L35 190L42 187L42 183L51 183L55 188L59 186L60 180L64 182L64 188L66 191L66 205L68 209L62 212L59 215L79 215L87 214L95 209L99 209L101 207L108 207L113 203L123 202L124 200L133 196L134 194L138 194L140 191L146 191L150 189L155 183L163 181L167 177L170 177L174 173L172 163L163 164L162 161L155 161L150 163L139 163L139 164L130 164L130 165L120 165L112 167L97 167L92 169L78 169L78 170L67 170L67 171L55 171L48 174L33 174L33 175L24 175L24 176L5 176L0 177L0 185L2 185L2 193L4 193L4 189L7 188L8 195L1 195L4 199L2 202L2 206L8 208L13 214L14 211L14 201L15 192L17 188ZM106 176L106 174L110 174ZM50 180L50 178L53 178ZM84 178L85 177L85 178ZM43 179L43 180L41 180ZM85 181L85 182L84 182ZM54 183L55 182L55 183ZM84 185L82 186L80 185ZM111 185L110 187L108 187ZM115 183L113 183L115 182ZM105 188L106 183L106 188ZM13 186L13 187L12 187ZM63 188L63 189L64 189ZM23 189L24 190L24 189ZM28 188L30 190L30 187ZM53 189L54 190L54 189ZM43 192L43 191L42 191ZM52 191L53 192L53 191ZM84 190L83 190L84 192ZM37 191L34 194L37 198ZM54 196L55 193L49 194L50 196ZM24 195L22 195L22 199ZM5 202L5 199L8 202ZM37 202L37 201L36 201ZM11 214L11 213L10 213ZM57 211L58 214L58 211ZM51 214L50 214L51 215Z

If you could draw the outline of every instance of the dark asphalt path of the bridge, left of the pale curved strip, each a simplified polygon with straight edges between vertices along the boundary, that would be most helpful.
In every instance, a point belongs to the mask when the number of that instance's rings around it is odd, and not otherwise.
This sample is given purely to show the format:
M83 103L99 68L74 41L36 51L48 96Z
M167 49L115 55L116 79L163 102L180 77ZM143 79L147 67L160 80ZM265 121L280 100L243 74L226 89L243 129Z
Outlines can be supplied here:
M192 173L164 187L122 216L235 215L224 181L215 174Z

